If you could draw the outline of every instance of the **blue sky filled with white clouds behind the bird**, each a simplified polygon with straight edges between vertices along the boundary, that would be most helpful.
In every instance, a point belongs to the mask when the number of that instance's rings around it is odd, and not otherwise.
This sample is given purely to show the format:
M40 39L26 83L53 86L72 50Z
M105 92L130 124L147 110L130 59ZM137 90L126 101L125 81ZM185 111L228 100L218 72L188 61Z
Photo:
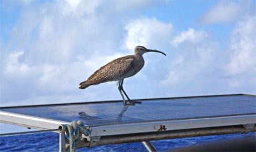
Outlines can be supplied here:
M1 1L0 18L1 107L121 100L78 84L137 45L167 56L144 54L131 99L256 94L255 1Z

